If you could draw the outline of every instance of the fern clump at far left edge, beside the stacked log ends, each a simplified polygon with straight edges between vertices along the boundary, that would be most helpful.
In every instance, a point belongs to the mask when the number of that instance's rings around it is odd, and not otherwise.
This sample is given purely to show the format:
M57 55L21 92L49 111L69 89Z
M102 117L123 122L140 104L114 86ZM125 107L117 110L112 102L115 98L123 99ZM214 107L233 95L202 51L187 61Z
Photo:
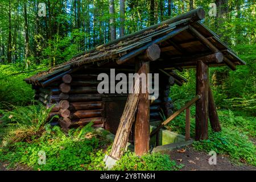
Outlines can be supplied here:
M3 145L15 142L27 141L40 137L43 133L43 126L47 121L51 110L46 109L42 104L30 106L11 106L13 110L0 110L2 126L6 130L3 136Z

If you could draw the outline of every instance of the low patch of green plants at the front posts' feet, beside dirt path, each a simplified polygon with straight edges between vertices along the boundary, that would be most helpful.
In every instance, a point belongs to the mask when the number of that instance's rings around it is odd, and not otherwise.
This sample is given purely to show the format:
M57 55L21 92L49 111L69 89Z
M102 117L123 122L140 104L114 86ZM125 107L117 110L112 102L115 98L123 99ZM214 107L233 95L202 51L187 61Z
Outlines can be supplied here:
M160 153L146 154L138 158L131 152L126 152L117 162L113 170L138 170L138 171L174 171L182 168L170 160L170 156Z

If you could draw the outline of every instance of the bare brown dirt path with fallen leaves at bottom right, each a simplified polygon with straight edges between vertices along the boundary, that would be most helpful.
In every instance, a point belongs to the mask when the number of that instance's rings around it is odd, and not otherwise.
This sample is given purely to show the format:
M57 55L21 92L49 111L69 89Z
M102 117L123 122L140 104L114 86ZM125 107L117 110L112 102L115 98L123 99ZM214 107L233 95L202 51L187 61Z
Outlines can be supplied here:
M210 156L205 152L195 151L191 146L183 148L184 150L174 150L166 152L177 164L184 164L181 171L256 171L256 167L242 164L238 166L230 162L225 156L217 155L217 164L210 165L208 160Z

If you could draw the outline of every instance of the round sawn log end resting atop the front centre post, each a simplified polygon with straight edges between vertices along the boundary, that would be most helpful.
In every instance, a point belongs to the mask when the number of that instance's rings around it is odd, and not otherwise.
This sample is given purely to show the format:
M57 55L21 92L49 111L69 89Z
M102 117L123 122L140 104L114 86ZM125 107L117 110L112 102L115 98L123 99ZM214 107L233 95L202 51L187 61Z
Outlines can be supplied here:
M161 50L157 44L152 44L150 47L146 49L143 55L138 58L145 61L155 61L159 59Z

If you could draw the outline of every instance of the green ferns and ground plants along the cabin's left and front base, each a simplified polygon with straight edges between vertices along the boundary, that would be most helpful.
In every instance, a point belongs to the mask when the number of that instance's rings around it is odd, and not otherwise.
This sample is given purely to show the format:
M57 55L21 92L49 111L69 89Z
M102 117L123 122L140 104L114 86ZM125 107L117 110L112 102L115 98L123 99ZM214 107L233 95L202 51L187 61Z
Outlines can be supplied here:
M12 106L1 110L0 161L8 168L26 164L34 170L105 170L104 157L112 142L94 133L89 123L85 127L63 131L46 123L43 105ZM44 154L45 164L44 164ZM177 170L168 155L146 154L141 158L125 152L113 170Z

